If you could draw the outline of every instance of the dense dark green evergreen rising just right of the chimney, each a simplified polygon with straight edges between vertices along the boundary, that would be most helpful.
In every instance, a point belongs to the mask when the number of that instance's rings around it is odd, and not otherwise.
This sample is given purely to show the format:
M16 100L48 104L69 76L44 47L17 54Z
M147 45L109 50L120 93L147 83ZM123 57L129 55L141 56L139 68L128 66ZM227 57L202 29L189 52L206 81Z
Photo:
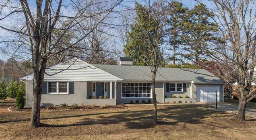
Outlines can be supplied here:
M134 65L146 66L147 58L145 56L149 53L149 46L143 41L145 40L145 33L143 32L154 33L154 27L158 27L158 25L150 16L151 11L138 2L135 3L135 11L137 15L136 23L131 25L128 42L124 46L124 54L133 58ZM163 58L161 58L161 61L164 64Z

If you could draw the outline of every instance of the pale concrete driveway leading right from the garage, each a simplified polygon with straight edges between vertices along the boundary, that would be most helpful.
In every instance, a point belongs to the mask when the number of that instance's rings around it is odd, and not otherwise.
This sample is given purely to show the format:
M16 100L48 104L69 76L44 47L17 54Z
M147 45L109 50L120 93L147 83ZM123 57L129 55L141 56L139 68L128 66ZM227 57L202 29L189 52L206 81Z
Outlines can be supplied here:
M215 108L215 102L205 103L205 104L210 105L210 106ZM237 105L232 105L231 103L218 102L217 103L217 109L226 110L226 111L234 111L235 113L238 112L238 106ZM246 116L256 118L256 109L246 108Z

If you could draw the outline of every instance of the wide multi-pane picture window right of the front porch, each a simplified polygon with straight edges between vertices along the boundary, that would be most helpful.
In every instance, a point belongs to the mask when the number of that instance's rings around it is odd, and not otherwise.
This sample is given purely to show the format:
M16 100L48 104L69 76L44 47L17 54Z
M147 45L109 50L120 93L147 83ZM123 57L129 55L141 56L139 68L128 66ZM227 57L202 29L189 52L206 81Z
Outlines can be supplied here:
M151 97L151 83L122 83L122 98Z

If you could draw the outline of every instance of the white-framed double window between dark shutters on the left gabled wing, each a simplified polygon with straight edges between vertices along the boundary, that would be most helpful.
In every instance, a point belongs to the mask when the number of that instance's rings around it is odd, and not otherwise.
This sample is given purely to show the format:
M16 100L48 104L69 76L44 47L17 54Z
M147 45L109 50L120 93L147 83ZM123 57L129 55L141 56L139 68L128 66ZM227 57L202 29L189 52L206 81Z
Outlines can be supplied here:
M68 82L47 82L47 93L68 93Z

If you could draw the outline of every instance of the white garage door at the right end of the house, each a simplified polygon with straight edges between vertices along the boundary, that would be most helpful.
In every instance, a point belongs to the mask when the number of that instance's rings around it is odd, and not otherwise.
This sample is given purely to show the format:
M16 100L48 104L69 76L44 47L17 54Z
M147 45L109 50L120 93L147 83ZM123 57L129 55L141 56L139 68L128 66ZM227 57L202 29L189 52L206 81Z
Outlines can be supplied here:
M215 102L217 92L217 101L219 101L219 86L196 86L197 102Z

